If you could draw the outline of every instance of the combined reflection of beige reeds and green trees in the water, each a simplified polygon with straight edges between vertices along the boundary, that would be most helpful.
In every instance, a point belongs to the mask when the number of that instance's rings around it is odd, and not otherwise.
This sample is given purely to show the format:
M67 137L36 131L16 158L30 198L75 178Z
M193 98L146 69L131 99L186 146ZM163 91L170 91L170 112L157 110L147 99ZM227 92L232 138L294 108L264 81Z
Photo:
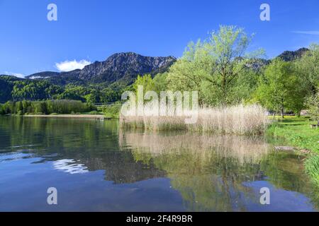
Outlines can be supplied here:
M259 203L259 194L243 182L266 177L278 189L308 192L297 155L274 153L263 138L138 131L119 137L135 160L167 172L188 210L245 210L247 202Z

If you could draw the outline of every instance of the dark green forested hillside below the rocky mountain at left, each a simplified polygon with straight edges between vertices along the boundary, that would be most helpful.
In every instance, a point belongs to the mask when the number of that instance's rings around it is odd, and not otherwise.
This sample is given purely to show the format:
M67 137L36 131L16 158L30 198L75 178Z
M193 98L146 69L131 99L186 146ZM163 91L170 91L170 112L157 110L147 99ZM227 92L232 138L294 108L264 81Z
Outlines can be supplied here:
M129 89L127 84L112 85L55 85L44 80L30 80L13 76L0 76L0 102L40 100L81 100L88 103L106 103L121 100Z

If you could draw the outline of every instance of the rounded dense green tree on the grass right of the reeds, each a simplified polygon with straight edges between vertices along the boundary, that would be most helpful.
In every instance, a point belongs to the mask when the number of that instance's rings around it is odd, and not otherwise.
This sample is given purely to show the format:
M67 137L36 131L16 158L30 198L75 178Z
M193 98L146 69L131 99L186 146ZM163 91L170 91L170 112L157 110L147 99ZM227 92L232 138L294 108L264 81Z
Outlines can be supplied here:
M268 109L281 112L284 118L286 108L299 113L303 107L305 90L300 88L300 82L292 63L275 59L260 78L255 97Z

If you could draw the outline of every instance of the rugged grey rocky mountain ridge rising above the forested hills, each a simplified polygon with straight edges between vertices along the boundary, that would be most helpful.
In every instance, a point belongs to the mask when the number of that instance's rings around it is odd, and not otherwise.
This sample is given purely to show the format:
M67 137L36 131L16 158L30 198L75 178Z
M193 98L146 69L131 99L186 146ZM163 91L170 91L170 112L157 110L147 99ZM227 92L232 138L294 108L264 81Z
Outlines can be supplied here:
M133 52L113 54L106 61L95 61L84 69L54 72L44 71L27 76L27 79L45 79L56 85L99 83L106 86L114 82L132 83L138 75L162 73L174 64L175 57L144 57Z

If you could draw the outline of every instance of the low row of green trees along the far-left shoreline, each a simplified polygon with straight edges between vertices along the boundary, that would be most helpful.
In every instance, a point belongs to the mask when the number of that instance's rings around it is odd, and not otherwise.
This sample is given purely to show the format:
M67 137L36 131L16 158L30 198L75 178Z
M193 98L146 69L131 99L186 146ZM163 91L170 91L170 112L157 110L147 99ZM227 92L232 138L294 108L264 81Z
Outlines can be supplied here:
M94 105L79 100L18 101L0 104L0 114L76 114L95 111Z

